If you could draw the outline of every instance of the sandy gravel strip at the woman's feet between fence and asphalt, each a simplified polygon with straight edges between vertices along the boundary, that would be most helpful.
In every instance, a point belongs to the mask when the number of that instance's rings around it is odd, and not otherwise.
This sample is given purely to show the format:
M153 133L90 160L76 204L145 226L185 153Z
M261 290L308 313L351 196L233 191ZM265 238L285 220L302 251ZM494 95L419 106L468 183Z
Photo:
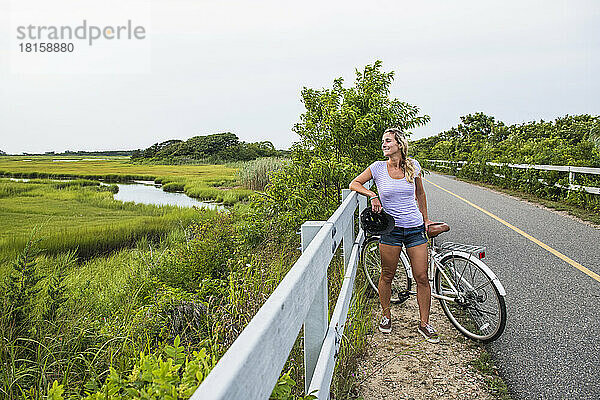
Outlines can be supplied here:
M448 321L437 301L432 302L431 324L440 343L426 342L417 332L414 296L392 305L392 333L377 329L379 306L374 307L368 355L359 366L361 398L375 399L493 399L485 377L469 362L481 347L464 338Z

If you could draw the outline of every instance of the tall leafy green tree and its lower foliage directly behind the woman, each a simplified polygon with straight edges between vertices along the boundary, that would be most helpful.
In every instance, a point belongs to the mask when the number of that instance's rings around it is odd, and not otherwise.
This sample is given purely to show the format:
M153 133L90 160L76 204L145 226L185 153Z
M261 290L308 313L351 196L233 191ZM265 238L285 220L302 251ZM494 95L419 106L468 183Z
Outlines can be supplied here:
M350 180L381 158L386 128L409 130L429 121L418 107L390 99L393 79L377 61L356 71L353 87L344 88L338 78L330 89L302 90L306 110L293 128L300 141L292 146L292 162L273 173L265 209L289 226L326 218Z

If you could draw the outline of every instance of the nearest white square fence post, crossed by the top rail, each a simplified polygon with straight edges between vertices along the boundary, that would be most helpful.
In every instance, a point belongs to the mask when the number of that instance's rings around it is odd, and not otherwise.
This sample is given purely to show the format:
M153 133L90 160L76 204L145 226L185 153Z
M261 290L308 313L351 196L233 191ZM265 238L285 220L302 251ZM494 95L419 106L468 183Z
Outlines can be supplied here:
M321 227L324 221L306 221L300 228L302 251L304 251ZM327 266L325 277L319 284L315 299L308 310L304 321L304 390L308 391L310 381L315 372L315 366L321 352L323 339L329 326L329 303L327 301Z

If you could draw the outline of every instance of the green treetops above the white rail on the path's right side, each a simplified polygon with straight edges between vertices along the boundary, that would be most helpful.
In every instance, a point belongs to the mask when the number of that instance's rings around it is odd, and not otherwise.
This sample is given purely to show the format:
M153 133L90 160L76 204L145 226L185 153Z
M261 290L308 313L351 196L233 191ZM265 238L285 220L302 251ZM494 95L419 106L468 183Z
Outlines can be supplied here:
M553 165L600 165L598 117L575 115L555 121L506 126L482 113L413 143L423 159Z

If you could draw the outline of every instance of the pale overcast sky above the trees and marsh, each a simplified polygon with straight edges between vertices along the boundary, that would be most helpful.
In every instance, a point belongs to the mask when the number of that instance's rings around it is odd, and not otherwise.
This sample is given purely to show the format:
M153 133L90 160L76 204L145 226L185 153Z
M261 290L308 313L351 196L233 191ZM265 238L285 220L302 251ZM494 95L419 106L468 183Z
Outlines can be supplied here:
M98 11L105 2L79 0L77 14L65 1L44 0L49 13L42 0L0 0L0 150L137 149L225 131L287 148L301 89L340 76L352 85L375 60L396 73L392 96L431 116L413 138L478 111L509 124L600 114L598 0L153 0L115 15ZM116 45L77 43L81 52L52 59L62 73L23 68L33 58L16 53L15 22L75 26L81 16L144 25L145 39L121 49L137 64L120 71L102 53ZM115 71L94 70L91 52Z

